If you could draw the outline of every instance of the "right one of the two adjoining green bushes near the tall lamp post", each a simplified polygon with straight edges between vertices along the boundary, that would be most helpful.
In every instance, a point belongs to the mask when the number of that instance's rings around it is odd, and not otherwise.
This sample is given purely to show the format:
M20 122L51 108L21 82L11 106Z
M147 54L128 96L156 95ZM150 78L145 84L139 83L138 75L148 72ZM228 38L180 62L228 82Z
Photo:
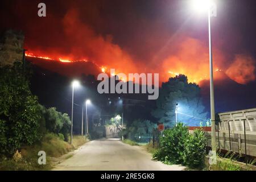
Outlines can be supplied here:
M184 143L184 164L191 168L203 168L205 160L205 147L207 138L204 131L195 130L193 135L189 135Z

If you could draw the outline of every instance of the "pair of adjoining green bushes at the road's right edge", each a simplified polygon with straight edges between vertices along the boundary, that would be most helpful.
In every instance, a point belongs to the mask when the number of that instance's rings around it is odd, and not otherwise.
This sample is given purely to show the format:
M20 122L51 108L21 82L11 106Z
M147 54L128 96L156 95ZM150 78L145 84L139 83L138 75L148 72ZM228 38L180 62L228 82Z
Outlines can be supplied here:
M160 148L153 155L166 164L184 164L191 168L203 167L207 138L204 131L188 133L188 127L178 123L177 127L163 131Z

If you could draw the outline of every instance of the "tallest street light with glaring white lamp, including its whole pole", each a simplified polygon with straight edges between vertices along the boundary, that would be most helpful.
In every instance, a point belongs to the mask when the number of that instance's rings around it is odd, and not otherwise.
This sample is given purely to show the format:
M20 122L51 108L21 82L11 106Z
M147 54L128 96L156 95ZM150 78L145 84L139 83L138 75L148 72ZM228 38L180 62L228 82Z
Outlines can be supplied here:
M214 109L214 87L213 87L213 64L212 64L212 35L210 18L217 16L216 4L211 0L193 0L193 7L199 11L208 11L208 31L209 31L209 65L210 65L210 120L212 130L212 152L216 153L216 133L215 133L215 109Z

